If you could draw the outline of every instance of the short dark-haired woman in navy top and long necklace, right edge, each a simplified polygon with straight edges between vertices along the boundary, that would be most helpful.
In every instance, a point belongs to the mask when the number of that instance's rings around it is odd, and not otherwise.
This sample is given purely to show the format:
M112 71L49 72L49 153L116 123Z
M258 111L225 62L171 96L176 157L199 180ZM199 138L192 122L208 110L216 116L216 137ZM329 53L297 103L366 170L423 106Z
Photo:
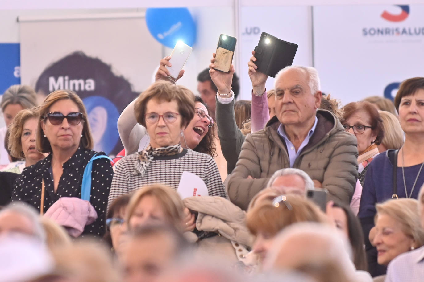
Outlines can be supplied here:
M387 150L369 165L358 213L364 230L368 270L373 276L386 271L377 265L377 250L367 240L374 227L375 205L391 198L417 199L419 187L424 183L424 77L404 80L394 104L405 141L401 149Z

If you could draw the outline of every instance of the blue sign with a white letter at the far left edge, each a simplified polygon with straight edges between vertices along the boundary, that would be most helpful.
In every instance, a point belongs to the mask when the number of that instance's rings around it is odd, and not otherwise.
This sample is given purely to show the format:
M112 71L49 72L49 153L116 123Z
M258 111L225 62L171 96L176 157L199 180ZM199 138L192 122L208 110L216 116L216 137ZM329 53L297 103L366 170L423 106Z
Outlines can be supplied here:
M0 43L0 94L9 86L21 83L19 46L19 43Z

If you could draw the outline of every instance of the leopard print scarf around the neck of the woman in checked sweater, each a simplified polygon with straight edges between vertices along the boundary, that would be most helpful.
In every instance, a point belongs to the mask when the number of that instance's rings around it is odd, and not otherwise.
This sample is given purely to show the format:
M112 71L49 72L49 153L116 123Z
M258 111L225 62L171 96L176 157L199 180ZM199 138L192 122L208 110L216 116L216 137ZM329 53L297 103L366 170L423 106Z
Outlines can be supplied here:
M143 177L155 156L173 156L179 152L181 152L181 144L160 148L153 148L149 144L146 149L138 153L139 157L135 165L136 172Z

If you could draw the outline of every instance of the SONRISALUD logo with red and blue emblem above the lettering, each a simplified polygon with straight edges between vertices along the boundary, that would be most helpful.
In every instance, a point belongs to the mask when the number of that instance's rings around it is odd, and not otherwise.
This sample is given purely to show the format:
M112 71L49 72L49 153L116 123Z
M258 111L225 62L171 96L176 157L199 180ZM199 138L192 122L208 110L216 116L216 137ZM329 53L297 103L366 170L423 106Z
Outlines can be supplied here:
M400 14L391 14L384 11L381 17L389 22L402 22L409 16L409 5L395 5L401 9ZM371 28L363 28L362 36L367 37L413 37L424 36L423 26L379 26Z

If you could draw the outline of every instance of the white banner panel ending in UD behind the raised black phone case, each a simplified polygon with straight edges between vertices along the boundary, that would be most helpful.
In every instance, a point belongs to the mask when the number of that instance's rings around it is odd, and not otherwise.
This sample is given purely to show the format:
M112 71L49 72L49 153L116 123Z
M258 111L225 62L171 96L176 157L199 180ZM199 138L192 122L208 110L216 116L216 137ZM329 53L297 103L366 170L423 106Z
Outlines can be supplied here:
M241 9L241 56L240 75L241 99L251 100L252 84L248 76L247 63L252 50L259 42L262 32L284 41L298 44L293 65L312 66L312 37L310 7L243 7ZM267 89L274 88L274 78L268 77Z

